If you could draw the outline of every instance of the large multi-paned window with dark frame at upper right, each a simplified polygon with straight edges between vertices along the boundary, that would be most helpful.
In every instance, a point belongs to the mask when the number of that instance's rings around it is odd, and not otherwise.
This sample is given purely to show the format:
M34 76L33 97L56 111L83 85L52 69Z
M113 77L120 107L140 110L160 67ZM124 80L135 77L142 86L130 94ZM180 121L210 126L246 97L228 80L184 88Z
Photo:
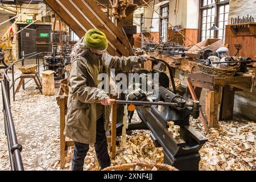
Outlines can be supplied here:
M216 3L217 2L217 3ZM225 38L225 26L228 24L229 1L201 1L201 41L209 38ZM219 31L209 30L215 24Z

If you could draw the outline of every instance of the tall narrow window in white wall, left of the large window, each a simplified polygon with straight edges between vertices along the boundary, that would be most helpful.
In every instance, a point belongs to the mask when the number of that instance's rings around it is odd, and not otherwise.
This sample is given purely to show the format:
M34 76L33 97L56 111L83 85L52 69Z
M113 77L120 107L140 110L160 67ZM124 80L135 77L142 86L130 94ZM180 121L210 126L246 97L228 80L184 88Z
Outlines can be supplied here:
M160 40L162 42L167 42L169 5L161 7L160 15L163 16L164 18L164 19L160 19Z

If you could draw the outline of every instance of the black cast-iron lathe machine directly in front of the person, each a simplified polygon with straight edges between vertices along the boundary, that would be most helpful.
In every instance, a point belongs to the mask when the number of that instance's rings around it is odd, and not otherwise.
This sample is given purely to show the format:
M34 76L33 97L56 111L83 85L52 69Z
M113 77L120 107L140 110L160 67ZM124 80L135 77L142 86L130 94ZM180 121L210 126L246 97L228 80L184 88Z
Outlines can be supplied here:
M136 69L134 73L138 73L141 83L146 82L148 86L159 86L159 97L156 98L151 92L143 90L142 86L135 84L133 88L137 88L137 92L130 92L126 96L128 101L147 101L150 105L136 105L136 110L141 118L141 122L131 122L133 111L129 111L130 119L127 131L132 130L151 130L151 138L156 147L162 147L164 153L164 163L170 164L180 170L198 170L200 162L199 150L207 138L199 131L196 131L189 125L189 118L199 117L199 101L188 103L179 94L176 94L175 84L173 90L169 87L169 78L162 71L162 64L168 69L170 65L164 60L152 59L158 62L156 69L147 71L145 69ZM154 82L154 78L148 78L148 73L158 74L159 82ZM174 76L170 72L171 82ZM133 89L132 89L133 90ZM156 103L164 102L170 105L156 105ZM119 129L122 123L118 123ZM118 131L118 128L117 128Z

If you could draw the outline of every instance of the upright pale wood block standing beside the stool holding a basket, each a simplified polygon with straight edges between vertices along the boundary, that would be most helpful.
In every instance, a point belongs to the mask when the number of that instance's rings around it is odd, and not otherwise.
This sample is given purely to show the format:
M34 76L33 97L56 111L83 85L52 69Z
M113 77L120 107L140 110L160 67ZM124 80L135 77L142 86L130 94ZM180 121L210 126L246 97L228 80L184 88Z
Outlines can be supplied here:
M42 73L43 77L43 95L44 96L55 96L55 81L53 71L45 71Z

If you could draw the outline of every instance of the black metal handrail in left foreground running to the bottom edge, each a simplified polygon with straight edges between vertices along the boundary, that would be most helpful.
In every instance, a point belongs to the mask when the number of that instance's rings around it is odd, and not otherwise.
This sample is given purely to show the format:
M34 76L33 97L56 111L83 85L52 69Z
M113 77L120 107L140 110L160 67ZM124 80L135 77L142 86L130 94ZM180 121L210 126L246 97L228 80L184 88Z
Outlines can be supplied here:
M5 122L5 132L7 136L7 143L9 148L10 164L12 171L24 171L22 156L20 152L22 151L22 146L18 143L16 136L13 114L11 113L10 98L6 91L6 86L9 86L9 81L7 81L6 74L0 72L0 81L2 88L2 100L3 100L3 115Z

